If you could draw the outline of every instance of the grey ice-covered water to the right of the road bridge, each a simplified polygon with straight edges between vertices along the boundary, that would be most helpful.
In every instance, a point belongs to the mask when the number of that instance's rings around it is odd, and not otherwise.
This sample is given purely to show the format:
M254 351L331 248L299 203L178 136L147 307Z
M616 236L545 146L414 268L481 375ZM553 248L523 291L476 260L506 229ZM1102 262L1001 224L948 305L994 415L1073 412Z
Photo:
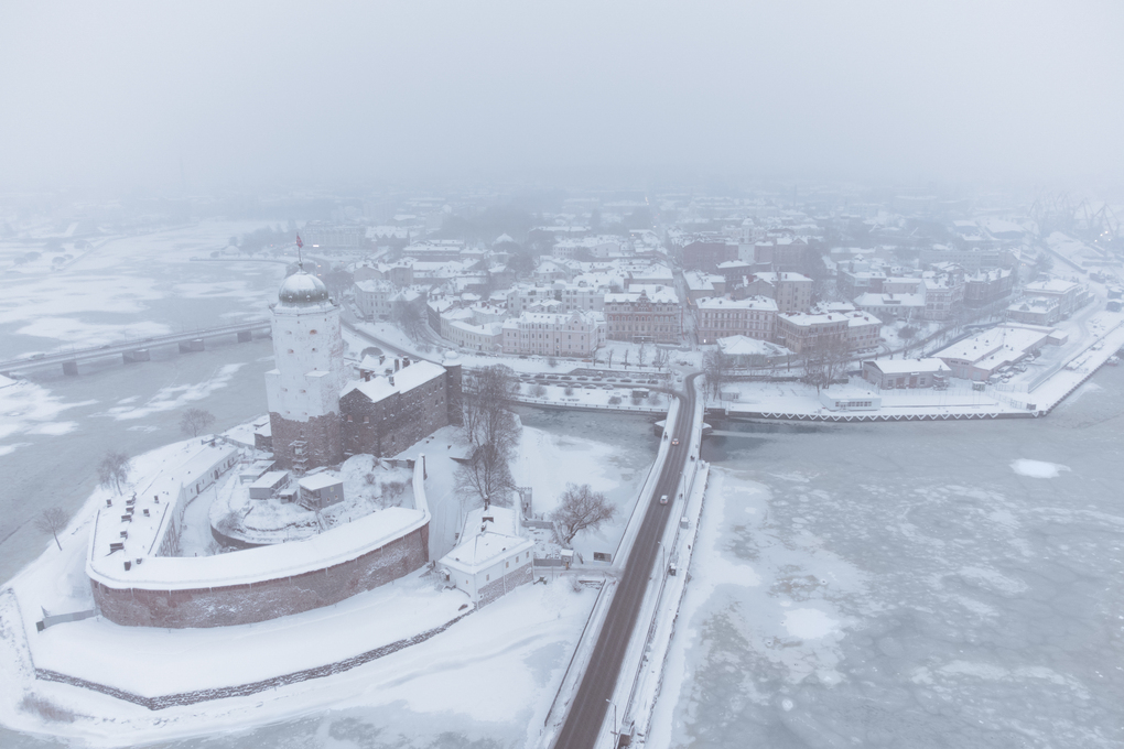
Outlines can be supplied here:
M1124 373L1095 380L1039 421L707 440L654 745L1122 746Z

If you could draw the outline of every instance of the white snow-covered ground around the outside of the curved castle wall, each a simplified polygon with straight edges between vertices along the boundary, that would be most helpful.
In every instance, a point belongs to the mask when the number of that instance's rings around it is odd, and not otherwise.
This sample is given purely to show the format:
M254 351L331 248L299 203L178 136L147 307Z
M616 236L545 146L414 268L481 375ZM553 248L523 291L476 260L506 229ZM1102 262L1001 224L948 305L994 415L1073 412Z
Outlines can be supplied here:
M535 433L525 430L532 439ZM179 448L140 456L137 475ZM568 450L579 460L581 453ZM593 474L593 463L604 460L604 446L584 453L582 469ZM609 477L595 482L614 484ZM65 613L90 605L85 537L105 493L96 492L60 535L62 551L52 542L6 586L19 601L19 615L10 605L0 611L0 719L8 727L118 746L246 728L309 710L361 707L370 714L392 706L397 720L391 725L406 731L410 721L426 724L414 736L479 724L489 736L522 743L536 736L535 720L541 724L545 716L593 602L593 592L574 591L568 581L527 585L430 640L354 670L154 713L89 689L35 681L20 654L29 652L39 668L158 696L336 663L444 624L464 612L468 599L419 572L335 606L260 624L167 631L88 619L36 633L43 610Z

